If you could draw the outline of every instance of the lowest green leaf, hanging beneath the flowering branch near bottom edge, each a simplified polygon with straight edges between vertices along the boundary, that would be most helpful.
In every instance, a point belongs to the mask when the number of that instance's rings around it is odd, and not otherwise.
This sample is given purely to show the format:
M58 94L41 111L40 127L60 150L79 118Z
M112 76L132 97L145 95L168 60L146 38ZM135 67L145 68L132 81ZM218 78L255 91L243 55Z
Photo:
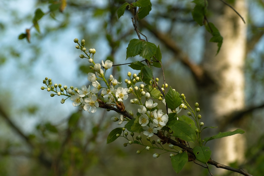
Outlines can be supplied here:
M179 153L170 158L173 170L178 174L185 163L188 161L188 154L186 152Z

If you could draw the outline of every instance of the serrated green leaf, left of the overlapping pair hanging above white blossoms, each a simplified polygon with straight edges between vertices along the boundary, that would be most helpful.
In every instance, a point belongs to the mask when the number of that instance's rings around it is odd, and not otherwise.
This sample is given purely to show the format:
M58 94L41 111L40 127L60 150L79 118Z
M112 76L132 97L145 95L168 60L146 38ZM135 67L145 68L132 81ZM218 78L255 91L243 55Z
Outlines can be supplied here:
M126 48L126 59L128 57L135 57L136 55L139 55L142 51L142 41L139 39L132 39L130 40L128 47Z

